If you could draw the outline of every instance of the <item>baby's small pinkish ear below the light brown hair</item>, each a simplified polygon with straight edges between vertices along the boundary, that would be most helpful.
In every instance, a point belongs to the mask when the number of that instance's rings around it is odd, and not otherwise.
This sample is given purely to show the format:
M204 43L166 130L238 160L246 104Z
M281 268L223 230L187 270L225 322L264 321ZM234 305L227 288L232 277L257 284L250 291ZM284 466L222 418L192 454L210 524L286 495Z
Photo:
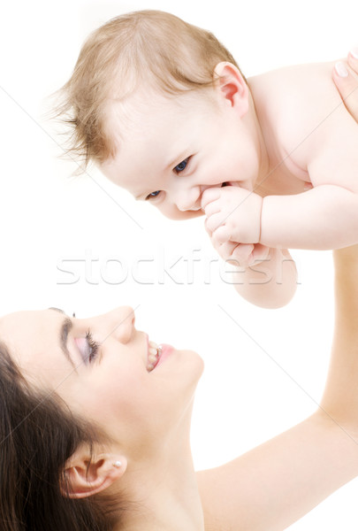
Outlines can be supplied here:
M218 63L214 70L214 81L222 103L235 107L240 117L248 112L248 84L237 66L226 61Z

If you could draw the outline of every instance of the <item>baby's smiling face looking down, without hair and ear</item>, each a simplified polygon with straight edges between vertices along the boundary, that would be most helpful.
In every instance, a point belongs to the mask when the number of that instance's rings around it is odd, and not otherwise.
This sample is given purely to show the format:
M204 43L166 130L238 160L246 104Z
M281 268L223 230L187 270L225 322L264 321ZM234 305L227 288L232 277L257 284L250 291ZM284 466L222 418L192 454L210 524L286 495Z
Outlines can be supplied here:
M141 91L111 104L107 127L118 150L103 173L171 219L202 215L202 193L210 187L253 189L259 148L251 122L224 98L215 99L214 90L212 96Z

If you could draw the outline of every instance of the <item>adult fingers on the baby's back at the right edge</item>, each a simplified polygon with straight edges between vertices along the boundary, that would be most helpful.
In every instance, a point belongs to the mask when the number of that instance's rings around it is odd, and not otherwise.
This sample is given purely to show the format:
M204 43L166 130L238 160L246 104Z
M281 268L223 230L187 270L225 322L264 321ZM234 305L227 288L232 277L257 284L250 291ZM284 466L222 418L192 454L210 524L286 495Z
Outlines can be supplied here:
M358 47L349 52L345 61L335 65L333 81L348 112L358 122Z

